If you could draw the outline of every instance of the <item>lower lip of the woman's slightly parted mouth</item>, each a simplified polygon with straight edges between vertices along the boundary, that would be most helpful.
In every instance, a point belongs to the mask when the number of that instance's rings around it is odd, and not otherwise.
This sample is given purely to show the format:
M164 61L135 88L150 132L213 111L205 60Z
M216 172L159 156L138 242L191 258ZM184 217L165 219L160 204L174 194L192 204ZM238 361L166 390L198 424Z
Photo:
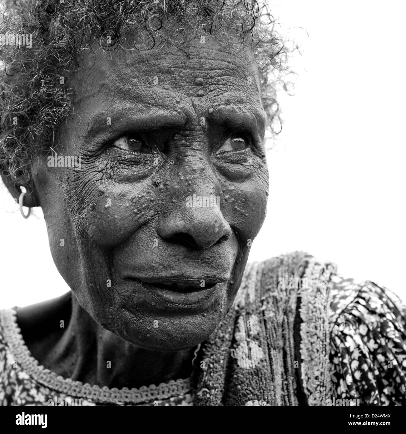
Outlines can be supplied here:
M212 288L201 289L190 293L178 293L171 291L170 289L158 288L151 283L142 282L138 279L132 279L139 283L145 291L142 291L142 295L145 296L145 302L160 309L165 307L177 308L177 309L193 309L202 310L207 308L208 305L215 302L219 296L222 295L223 289L226 283L218 283ZM141 295L141 294L140 294Z

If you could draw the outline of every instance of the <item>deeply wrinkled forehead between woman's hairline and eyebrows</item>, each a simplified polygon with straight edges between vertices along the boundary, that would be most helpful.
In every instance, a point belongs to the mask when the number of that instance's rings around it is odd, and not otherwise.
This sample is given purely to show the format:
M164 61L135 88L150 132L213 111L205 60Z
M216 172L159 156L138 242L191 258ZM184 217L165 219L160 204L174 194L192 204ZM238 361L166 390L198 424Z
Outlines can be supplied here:
M229 106L254 116L260 128L265 124L258 67L248 47L235 50L199 38L187 48L170 43L145 50L98 46L83 56L79 77L76 112L77 105L93 114L113 115L126 108L161 111L162 116L172 111L182 123L210 107Z

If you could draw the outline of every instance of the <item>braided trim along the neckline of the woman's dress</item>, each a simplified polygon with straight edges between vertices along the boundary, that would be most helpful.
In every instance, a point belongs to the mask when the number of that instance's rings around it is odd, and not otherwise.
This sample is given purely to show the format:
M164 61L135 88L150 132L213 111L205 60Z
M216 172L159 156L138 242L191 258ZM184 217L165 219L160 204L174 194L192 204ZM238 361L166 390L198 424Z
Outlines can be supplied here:
M142 386L139 389L126 387L110 389L107 386L101 388L98 385L63 378L46 369L33 358L18 327L15 309L0 310L0 325L3 329L3 338L16 362L26 374L41 385L66 395L109 404L142 404L185 395L192 390L190 378L171 380L158 386L153 384Z

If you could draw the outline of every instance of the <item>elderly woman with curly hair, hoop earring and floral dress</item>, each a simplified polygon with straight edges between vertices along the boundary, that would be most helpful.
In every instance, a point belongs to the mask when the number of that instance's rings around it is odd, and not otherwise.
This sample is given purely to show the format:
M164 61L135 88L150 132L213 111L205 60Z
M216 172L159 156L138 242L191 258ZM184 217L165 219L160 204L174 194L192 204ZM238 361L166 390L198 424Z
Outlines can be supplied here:
M42 207L71 288L1 311L3 405L405 404L393 293L302 252L246 265L284 53L269 18L3 5L1 176L24 217Z

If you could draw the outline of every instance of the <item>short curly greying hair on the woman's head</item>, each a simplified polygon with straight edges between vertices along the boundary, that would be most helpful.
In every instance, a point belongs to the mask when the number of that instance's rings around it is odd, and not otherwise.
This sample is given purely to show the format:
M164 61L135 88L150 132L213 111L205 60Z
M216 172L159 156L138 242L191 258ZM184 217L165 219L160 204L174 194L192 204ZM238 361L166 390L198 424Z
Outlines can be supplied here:
M287 49L267 7L256 0L6 0L0 35L10 34L20 42L32 35L29 49L17 41L0 47L0 170L15 185L30 189L30 162L50 151L59 124L72 112L70 79L79 53L94 41L104 49L165 41L182 48L207 34L236 49L251 47L268 128L277 133L280 125L275 82Z

